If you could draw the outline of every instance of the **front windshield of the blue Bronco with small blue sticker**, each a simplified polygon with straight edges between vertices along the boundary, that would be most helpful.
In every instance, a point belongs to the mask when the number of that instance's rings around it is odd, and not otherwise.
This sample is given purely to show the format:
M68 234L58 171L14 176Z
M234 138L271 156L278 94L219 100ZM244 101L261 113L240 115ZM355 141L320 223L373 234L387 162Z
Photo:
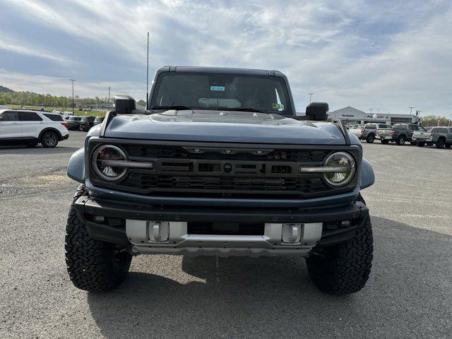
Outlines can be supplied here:
M228 73L161 73L150 106L292 114L283 78Z

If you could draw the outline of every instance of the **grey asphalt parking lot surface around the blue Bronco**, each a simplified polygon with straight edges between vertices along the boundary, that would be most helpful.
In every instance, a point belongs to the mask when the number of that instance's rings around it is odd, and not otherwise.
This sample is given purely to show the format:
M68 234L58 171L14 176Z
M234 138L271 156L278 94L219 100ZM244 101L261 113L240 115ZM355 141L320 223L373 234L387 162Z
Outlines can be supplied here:
M182 256L138 256L95 294L64 264L84 136L0 148L0 338L452 338L451 149L363 144L375 252L355 295L316 290L303 258Z

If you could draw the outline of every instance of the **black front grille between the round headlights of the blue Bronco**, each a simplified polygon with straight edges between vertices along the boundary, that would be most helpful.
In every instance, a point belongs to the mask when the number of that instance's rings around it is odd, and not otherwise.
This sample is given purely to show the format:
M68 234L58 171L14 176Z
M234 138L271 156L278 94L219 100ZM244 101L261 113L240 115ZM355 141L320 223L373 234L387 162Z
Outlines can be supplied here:
M129 168L121 182L95 184L145 195L203 198L307 198L340 191L328 186L321 173L299 174L300 165L323 165L329 149L150 143L119 146L131 161L152 161L153 169Z

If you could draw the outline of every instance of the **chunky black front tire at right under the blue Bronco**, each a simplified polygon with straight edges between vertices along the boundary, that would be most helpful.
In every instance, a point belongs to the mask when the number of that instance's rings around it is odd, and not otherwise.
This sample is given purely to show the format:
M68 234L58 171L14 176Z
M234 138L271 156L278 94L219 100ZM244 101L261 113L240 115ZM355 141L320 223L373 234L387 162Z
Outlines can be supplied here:
M357 201L364 199L358 196ZM355 236L306 258L309 275L322 292L348 295L366 285L372 267L374 239L370 218L359 227Z

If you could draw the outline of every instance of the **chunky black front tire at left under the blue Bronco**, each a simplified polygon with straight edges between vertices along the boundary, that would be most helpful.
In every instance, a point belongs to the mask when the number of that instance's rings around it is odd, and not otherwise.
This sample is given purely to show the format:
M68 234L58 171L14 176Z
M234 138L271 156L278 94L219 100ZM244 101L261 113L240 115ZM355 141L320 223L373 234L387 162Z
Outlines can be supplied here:
M87 194L85 186L79 186L73 203ZM78 218L73 203L69 210L64 245L69 278L81 290L113 290L126 278L132 256L124 246L91 239L86 226Z

